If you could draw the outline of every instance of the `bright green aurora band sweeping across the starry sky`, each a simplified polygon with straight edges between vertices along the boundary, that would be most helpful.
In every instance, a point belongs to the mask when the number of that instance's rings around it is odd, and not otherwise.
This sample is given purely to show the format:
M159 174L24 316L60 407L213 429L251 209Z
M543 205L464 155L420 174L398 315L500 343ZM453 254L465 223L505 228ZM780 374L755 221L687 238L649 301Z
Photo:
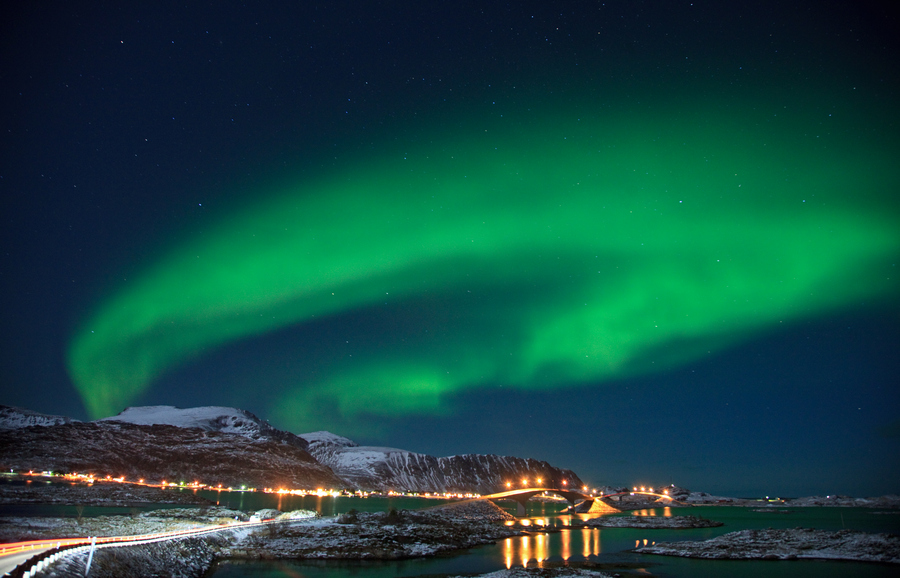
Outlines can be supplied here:
M323 407L439 413L478 387L658 372L892 300L892 147L827 112L723 108L460 129L254 191L99 304L72 379L96 418L236 340L385 307L444 320L284 392L273 417L312 429Z

